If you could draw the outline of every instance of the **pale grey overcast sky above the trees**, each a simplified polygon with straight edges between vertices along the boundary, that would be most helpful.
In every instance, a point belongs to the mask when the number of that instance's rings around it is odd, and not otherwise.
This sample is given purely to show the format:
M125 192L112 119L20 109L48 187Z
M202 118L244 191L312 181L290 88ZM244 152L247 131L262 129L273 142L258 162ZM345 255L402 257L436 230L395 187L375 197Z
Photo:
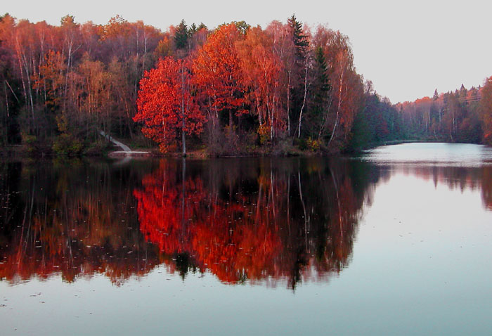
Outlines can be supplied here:
M0 11L32 22L58 25L66 14L77 22L108 22L119 14L161 30L204 22L216 27L245 20L266 27L292 13L315 27L328 25L349 36L358 73L373 81L391 102L479 86L492 76L492 1L328 1L328 0L185 0L4 1ZM3 15L4 13L0 13Z

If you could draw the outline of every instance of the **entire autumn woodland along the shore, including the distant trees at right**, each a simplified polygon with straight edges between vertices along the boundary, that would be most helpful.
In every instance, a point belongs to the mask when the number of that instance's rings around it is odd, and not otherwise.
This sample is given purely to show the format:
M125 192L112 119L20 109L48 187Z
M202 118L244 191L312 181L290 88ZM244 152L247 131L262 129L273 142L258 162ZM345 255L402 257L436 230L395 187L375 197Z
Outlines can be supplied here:
M391 104L354 67L347 36L294 15L162 32L117 16L59 26L0 18L0 143L33 155L132 147L208 155L338 153L388 141L492 141L484 86Z

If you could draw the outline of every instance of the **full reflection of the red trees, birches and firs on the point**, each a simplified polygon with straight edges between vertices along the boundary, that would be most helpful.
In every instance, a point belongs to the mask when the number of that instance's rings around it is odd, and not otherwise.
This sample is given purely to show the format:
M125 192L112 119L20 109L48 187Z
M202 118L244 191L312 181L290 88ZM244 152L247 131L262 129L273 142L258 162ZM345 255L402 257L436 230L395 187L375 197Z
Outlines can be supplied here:
M326 279L351 256L369 182L360 165L162 161L134 192L140 228L183 275L209 270L227 283L291 287Z

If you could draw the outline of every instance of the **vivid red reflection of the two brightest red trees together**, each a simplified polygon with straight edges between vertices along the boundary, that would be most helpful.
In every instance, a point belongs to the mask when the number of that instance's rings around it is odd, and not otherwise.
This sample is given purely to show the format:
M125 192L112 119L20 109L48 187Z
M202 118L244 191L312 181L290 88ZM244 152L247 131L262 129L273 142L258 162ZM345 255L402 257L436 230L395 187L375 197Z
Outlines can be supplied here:
M271 275L280 251L276 226L268 222L272 210L257 205L252 214L254 206L245 199L220 200L205 192L200 179L187 179L183 196L183 184L174 184L175 176L176 171L163 164L145 176L143 190L134 191L145 238L165 254L187 252L202 270L225 282Z

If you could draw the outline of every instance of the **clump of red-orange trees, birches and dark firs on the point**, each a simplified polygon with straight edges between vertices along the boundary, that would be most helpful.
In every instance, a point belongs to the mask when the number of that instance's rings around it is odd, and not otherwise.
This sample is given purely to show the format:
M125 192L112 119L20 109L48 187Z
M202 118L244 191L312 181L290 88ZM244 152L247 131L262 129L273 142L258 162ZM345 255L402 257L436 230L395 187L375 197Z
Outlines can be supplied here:
M286 139L312 150L347 147L364 92L346 36L323 26L311 32L292 16L265 30L221 25L197 49L190 37L181 22L175 55L141 82L134 119L163 152L179 142L184 152L185 134L201 135L214 154Z

